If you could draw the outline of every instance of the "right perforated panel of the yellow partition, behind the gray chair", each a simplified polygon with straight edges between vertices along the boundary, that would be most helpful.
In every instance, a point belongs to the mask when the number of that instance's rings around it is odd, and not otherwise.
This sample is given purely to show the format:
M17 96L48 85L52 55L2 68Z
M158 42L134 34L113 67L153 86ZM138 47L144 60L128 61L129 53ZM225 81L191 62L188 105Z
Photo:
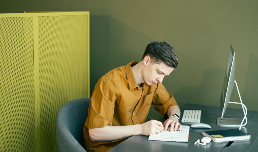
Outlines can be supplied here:
M41 151L57 151L55 116L88 97L88 15L38 17Z

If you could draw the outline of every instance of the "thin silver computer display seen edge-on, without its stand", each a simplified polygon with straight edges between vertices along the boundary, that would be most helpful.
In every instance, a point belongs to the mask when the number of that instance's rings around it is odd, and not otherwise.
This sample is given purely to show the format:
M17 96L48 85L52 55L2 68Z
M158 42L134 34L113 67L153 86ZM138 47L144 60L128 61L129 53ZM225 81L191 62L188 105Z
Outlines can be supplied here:
M221 99L220 99L221 119L225 114L229 99L231 97L231 93L232 93L234 81L235 81L235 74L236 74L235 52L233 50L232 45L230 45L228 63L226 67L226 72L225 72L224 82L223 82L223 87L221 92Z

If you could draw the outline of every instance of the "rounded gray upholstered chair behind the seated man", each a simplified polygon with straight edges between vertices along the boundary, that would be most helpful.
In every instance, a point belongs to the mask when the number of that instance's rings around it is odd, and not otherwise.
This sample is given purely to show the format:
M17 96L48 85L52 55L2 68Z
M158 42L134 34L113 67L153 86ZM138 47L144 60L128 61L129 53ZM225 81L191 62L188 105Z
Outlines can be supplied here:
M55 118L59 152L86 152L82 147L83 126L88 116L90 98L75 99L63 105Z

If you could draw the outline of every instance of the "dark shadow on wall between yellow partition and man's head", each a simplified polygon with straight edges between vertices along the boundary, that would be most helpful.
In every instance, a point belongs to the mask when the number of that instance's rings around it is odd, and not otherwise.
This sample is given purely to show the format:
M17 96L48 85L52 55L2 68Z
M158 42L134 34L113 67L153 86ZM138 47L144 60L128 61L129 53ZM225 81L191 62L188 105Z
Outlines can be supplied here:
M100 77L131 61L140 61L155 41L107 15L90 16L90 94Z

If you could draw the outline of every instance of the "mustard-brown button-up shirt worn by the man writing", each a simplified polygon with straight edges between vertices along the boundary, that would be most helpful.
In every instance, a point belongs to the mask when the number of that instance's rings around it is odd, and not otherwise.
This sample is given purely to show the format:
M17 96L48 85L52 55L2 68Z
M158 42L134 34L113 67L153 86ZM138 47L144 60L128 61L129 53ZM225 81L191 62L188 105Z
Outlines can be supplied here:
M136 84L131 67L137 63L134 61L109 71L95 85L84 124L86 151L104 152L127 139L91 141L88 129L142 124L151 105L163 116L171 105L177 105L162 83Z

